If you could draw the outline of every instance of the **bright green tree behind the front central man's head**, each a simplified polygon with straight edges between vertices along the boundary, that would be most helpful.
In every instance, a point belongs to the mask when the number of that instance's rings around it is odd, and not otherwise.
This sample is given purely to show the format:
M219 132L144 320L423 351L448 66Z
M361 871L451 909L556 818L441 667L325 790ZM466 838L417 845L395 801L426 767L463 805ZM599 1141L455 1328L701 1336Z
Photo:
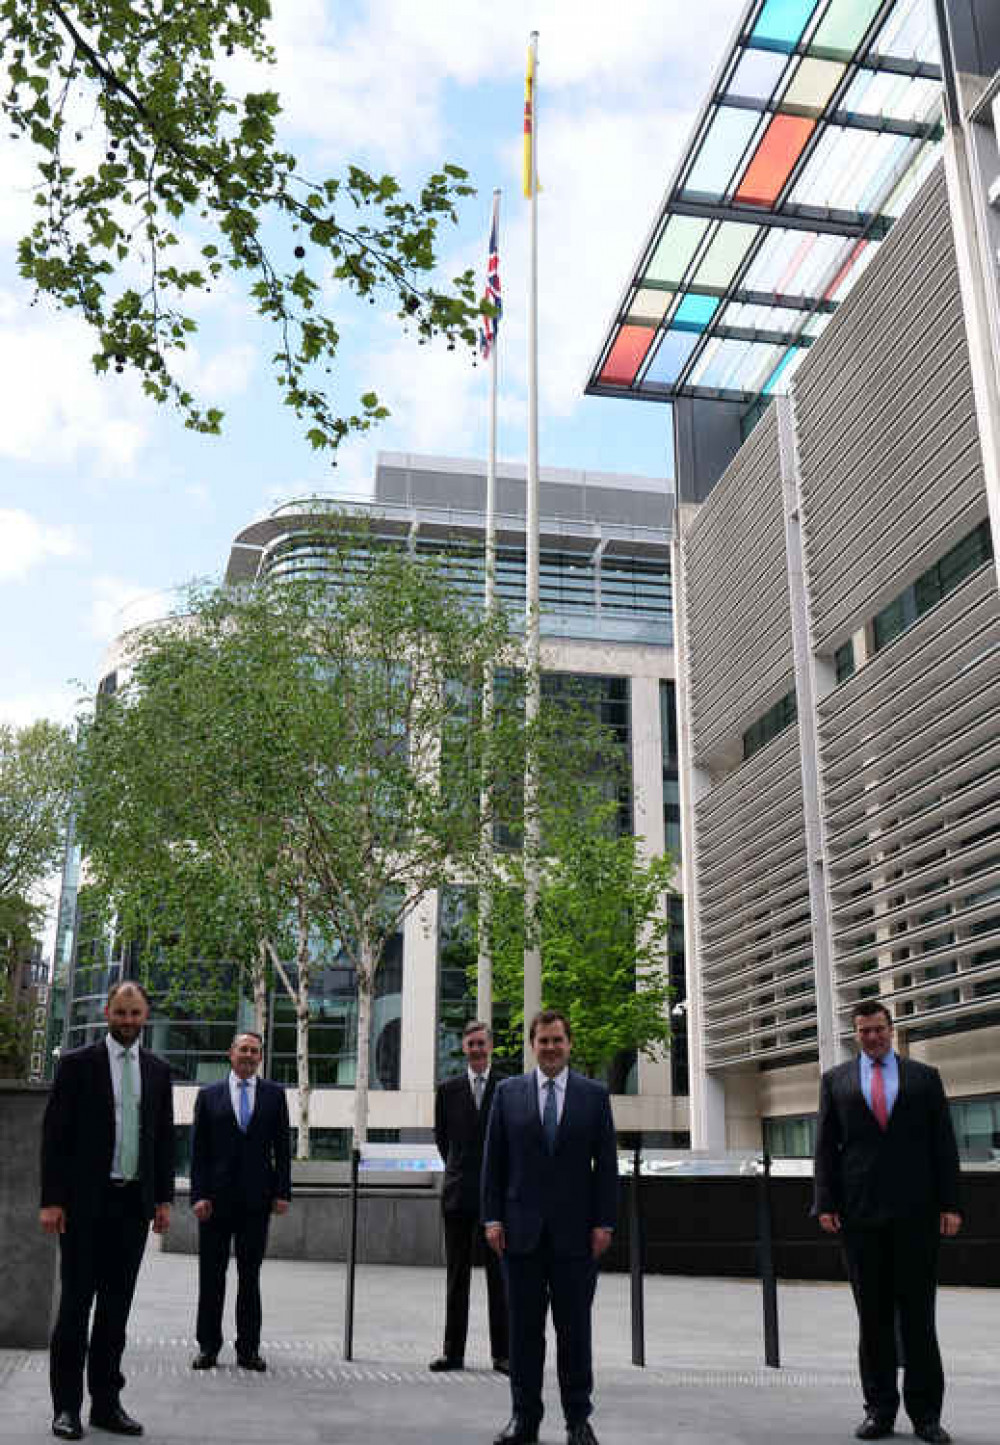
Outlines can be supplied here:
M665 965L669 857L643 857L640 840L618 832L618 805L591 783L569 805L543 809L535 928L542 946L542 997L572 1026L574 1062L585 1074L611 1069L623 1053L649 1056L671 1039ZM523 860L513 857L493 887L494 996L523 1026ZM614 1079L613 1079L614 1082Z

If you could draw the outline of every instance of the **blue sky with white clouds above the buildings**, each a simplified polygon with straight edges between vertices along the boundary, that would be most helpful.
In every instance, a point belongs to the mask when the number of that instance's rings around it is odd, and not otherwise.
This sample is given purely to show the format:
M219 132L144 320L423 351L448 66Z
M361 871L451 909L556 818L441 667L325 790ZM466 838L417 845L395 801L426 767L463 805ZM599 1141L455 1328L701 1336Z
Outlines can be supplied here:
M405 185L464 165L477 195L442 236L442 275L483 277L500 186L500 457L525 457L527 202L525 53L539 32L539 457L543 467L669 477L669 409L585 397L630 267L744 0L277 0L280 144L309 175L354 160ZM33 303L16 244L32 156L0 139L0 721L69 720L124 624L172 588L220 578L234 536L279 501L368 494L382 451L484 457L487 371L418 348L392 308L332 293L334 394L373 389L392 416L331 468L270 380L273 338L236 282L198 303L188 377L225 410L185 431L127 371L95 376L75 316ZM290 264L290 262L289 262Z

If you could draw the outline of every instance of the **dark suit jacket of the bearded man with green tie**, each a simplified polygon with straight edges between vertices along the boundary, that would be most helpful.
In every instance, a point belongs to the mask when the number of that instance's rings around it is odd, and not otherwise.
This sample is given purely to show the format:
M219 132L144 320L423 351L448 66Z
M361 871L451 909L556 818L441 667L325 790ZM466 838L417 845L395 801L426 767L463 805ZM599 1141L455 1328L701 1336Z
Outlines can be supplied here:
M173 1199L173 1091L171 1069L139 1049L139 1182L146 1217ZM66 1220L92 1218L114 1157L114 1092L107 1043L59 1059L42 1126L42 1208L59 1204Z

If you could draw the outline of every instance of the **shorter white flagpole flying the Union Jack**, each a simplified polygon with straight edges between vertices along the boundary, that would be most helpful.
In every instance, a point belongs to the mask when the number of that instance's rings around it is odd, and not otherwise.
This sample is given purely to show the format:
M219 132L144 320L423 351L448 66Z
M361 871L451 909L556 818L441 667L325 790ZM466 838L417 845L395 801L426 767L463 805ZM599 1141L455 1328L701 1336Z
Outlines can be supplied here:
M493 224L490 244L490 266L493 264L493 237L500 231L500 191L493 192ZM499 275L499 272L497 272ZM493 345L490 347L490 448L486 462L486 579L484 605L490 618L496 607L497 585L497 342L500 340L500 318L493 319ZM488 757L493 733L493 665L487 662L483 676L483 756ZM488 764L487 764L488 766ZM493 906L493 789L484 769L480 793L480 906L478 906L478 959L475 974L475 1017L493 1027L493 945L490 939Z

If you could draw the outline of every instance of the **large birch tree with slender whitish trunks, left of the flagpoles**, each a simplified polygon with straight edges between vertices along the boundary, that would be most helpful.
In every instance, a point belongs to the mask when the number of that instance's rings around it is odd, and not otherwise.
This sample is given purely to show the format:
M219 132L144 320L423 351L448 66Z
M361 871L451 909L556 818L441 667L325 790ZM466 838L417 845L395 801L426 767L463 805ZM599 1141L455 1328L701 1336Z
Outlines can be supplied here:
M377 970L475 854L484 750L506 743L468 698L509 642L435 559L324 517L316 530L318 577L195 597L136 640L130 679L85 730L79 837L147 968L186 988L214 957L282 980L302 1143L314 955L337 946L357 985L360 1143Z

